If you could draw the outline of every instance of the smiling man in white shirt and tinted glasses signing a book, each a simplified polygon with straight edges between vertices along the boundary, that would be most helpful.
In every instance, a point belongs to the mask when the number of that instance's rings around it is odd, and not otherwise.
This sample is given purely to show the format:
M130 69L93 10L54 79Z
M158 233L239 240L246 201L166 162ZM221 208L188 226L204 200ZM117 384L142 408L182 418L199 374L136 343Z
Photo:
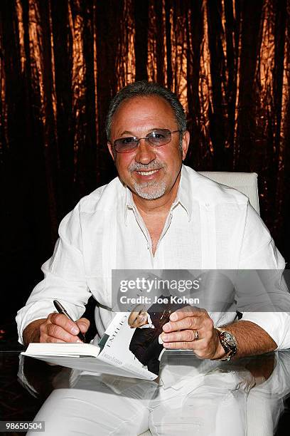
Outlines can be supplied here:
M45 279L17 315L24 343L78 341L77 333L89 325L80 316L90 293L100 304L96 324L102 335L112 317L106 310L112 307L112 269L284 269L284 259L247 198L183 166L189 133L173 93L147 82L123 88L109 108L107 137L119 177L83 198L60 224L53 256L43 265ZM78 321L53 313L53 299ZM200 359L290 347L289 315L281 312L244 313L235 321L233 311L210 316L188 306L171 313L163 332L164 348L191 349ZM190 383L183 388L188 392ZM161 401L176 392L168 388ZM64 404L61 398L55 413ZM118 434L134 434L124 430L124 402L122 407L118 422L123 432ZM131 407L132 402L127 408L134 426L147 409L134 405L133 412ZM107 425L115 428L111 418ZM100 427L105 428L98 421Z

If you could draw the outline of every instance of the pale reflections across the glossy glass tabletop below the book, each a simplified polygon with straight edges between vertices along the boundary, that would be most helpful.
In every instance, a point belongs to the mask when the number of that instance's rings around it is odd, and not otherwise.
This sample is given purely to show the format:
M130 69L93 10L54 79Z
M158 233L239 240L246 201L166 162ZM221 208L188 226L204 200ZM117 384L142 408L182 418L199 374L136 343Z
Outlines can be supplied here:
M149 426L153 435L166 436L274 435L290 392L289 351L230 363L166 351L158 383L19 357L18 380L39 406L45 400L37 415L45 420L45 435L78 429L85 435L138 435ZM286 434L278 429L277 435Z

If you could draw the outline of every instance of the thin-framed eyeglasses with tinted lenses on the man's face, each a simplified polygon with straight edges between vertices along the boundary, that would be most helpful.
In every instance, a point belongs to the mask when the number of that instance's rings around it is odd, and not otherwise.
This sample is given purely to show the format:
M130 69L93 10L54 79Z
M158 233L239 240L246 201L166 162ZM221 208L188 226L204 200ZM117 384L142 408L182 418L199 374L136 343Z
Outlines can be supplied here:
M152 145L152 147L161 147L162 145L166 145L171 141L171 133L177 133L181 131L182 130L171 131L168 129L156 129L145 137L120 137L119 139L114 140L112 146L118 153L129 153L133 150L136 150L141 139L144 139L149 143L149 145Z

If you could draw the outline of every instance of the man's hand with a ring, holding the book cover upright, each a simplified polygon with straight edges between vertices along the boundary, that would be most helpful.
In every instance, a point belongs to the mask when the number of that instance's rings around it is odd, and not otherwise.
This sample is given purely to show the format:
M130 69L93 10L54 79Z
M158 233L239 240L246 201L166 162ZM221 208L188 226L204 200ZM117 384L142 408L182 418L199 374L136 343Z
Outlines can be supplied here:
M225 354L213 320L205 309L186 306L171 313L169 319L161 334L164 348L193 350L200 359L220 358Z

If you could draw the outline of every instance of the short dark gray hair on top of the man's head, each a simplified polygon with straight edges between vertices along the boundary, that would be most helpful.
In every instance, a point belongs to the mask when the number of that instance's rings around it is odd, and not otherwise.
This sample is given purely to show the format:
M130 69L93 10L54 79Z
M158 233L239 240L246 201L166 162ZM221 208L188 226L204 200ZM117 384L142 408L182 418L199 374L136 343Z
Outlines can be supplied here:
M174 112L178 130L181 130L181 133L186 130L186 114L176 95L173 94L171 90L159 85L159 83L138 81L130 83L119 90L119 93L117 93L112 99L106 119L106 134L108 140L110 140L111 137L112 118L116 110L119 108L119 105L121 105L123 101L129 100L130 98L149 97L151 95L157 95L158 97L163 98L163 100L166 100ZM183 135L181 135L181 142L182 137Z

